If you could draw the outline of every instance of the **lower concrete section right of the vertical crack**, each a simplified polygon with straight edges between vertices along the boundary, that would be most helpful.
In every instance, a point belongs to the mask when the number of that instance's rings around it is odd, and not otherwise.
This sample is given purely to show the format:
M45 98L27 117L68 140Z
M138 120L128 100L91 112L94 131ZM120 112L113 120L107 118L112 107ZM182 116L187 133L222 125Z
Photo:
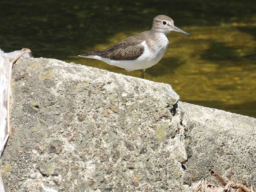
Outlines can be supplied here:
M216 182L209 169L225 180L256 186L256 119L218 109L178 102L184 113L188 167L193 180Z

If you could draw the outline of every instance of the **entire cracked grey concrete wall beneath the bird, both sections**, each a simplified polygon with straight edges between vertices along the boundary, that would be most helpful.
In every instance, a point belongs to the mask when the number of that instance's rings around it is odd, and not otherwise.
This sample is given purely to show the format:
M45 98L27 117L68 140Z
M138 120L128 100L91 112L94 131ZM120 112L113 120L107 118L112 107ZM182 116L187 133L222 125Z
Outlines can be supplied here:
M18 60L12 82L6 191L192 191L210 168L256 183L254 118L53 59Z

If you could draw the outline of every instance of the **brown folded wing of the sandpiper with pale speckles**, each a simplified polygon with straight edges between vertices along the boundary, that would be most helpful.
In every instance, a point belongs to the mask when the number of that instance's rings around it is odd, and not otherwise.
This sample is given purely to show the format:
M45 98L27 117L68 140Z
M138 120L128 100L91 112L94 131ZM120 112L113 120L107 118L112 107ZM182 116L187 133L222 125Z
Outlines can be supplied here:
M144 52L141 45L143 39L138 38L139 36L140 34L128 37L108 49L91 51L81 57L97 55L111 60L135 60Z

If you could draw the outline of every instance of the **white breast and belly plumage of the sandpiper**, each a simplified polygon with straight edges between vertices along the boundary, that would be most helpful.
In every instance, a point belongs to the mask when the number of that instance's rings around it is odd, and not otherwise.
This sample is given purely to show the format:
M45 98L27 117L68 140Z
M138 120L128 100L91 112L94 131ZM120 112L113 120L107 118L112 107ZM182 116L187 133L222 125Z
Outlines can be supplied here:
M154 42L154 43L153 43ZM124 68L127 71L147 69L156 65L164 55L169 44L168 38L163 34L157 34L157 41L151 41L149 48L146 41L143 41L141 45L144 47L143 54L136 60L110 60L108 58L102 58L99 56L93 56L92 59L102 60L109 65L114 65L116 67Z

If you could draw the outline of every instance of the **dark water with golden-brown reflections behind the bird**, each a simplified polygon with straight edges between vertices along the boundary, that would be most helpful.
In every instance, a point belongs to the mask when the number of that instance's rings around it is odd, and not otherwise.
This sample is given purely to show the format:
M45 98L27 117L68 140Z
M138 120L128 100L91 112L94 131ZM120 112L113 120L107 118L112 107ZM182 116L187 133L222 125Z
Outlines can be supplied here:
M123 73L78 58L151 28L165 14L191 36L171 32L163 59L145 78L164 82L181 101L256 117L255 1L0 1L0 48ZM140 76L140 71L129 75Z

